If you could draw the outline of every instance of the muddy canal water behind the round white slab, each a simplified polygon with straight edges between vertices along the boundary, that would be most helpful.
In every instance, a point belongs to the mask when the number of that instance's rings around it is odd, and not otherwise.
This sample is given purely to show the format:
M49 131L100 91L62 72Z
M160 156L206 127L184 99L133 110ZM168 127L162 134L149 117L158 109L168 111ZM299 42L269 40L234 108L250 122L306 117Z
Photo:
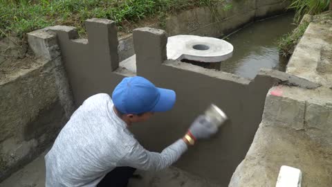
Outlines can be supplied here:
M221 62L221 71L255 78L259 69L285 71L286 60L279 57L277 39L295 28L293 13L256 21L224 38L234 46L233 56Z

